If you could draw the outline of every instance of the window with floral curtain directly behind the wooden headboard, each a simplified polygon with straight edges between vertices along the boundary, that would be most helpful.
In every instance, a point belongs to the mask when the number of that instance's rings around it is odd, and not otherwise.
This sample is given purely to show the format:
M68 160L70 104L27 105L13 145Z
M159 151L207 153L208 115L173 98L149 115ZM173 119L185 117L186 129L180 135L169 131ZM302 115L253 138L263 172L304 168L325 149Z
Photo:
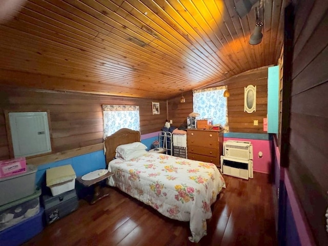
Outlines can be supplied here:
M103 105L104 139L121 128L140 131L139 106Z

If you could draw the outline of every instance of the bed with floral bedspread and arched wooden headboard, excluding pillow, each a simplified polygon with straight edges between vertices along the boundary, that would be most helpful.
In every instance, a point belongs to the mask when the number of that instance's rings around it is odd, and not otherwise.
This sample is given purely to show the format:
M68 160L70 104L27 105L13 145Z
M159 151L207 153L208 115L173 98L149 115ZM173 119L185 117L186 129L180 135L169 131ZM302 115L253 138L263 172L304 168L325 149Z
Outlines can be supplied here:
M190 221L189 240L198 242L207 234L211 204L225 188L219 170L212 163L146 151L131 160L115 158L116 147L132 142L140 142L140 133L126 128L105 139L108 170L114 173L108 185L166 217Z

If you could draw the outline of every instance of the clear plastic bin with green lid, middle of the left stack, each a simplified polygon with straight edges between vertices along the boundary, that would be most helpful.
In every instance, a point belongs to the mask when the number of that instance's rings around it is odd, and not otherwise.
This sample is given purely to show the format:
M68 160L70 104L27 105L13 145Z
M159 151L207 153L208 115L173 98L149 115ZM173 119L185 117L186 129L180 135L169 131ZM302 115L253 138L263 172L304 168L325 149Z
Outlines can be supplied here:
M41 191L0 207L0 231L14 226L39 212Z

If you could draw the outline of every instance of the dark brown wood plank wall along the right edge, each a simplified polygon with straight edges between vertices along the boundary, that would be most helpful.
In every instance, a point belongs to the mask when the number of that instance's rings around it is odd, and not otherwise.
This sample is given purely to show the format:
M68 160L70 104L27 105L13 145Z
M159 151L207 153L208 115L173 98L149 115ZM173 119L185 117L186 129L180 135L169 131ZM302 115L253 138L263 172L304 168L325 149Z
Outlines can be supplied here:
M328 245L324 216L328 207L328 1L298 1L294 11L294 26L285 29L287 35L292 34L292 42L285 39L284 49L292 56L287 59L288 53L284 53L284 70L290 69L291 76L284 74L283 91L290 84L291 99L290 107L285 108L287 98L283 98L282 110L289 112L289 122L285 122L289 128L282 122L282 133L289 136L282 136L288 142L282 142L281 158L286 158L281 163L289 163L292 185L316 244Z

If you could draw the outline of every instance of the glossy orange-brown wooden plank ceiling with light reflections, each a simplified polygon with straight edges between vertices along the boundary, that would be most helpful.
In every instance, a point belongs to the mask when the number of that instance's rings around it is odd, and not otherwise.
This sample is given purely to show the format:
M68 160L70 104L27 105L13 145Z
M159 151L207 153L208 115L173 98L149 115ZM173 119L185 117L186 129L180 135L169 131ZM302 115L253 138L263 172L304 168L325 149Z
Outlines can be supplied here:
M263 0L252 46L232 0L28 0L0 25L0 84L168 99L276 64L285 2Z

